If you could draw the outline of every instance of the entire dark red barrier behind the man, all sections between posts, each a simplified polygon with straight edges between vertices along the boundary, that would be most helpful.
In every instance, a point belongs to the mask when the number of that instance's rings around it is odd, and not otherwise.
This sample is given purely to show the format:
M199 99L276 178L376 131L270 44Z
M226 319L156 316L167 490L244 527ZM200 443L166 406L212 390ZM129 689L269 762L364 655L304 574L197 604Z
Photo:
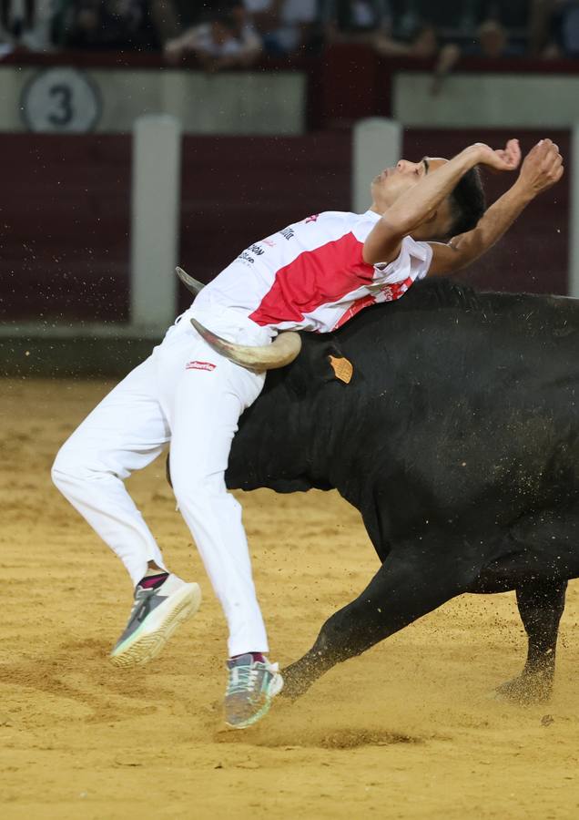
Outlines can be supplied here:
M505 132L409 130L404 155L452 156ZM545 135L516 134L523 150ZM557 138L568 158L567 133ZM208 281L291 221L350 207L350 132L294 138L186 137L180 261ZM0 135L0 320L128 316L130 138ZM566 160L569 166L568 159ZM469 272L479 287L566 292L568 178L536 200ZM487 180L491 200L513 178ZM188 294L180 291L180 306Z

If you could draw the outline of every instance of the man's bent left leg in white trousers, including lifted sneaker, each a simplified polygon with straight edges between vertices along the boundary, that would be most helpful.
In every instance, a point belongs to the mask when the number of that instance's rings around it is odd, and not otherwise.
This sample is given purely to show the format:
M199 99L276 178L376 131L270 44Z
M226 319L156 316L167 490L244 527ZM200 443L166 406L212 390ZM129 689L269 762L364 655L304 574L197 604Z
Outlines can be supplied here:
M117 553L136 587L127 629L111 656L119 665L150 660L200 600L197 584L168 574L123 483L168 442L168 422L155 390L156 366L149 358L86 417L52 469L56 487Z

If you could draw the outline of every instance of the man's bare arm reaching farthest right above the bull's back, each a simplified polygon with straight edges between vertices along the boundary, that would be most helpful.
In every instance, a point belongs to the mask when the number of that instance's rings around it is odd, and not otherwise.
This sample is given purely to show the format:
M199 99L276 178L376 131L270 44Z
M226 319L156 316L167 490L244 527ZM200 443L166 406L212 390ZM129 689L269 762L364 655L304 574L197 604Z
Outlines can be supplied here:
M488 208L472 231L455 236L448 244L431 242L429 276L441 276L471 264L493 247L526 206L563 176L563 159L550 139L542 139L524 159L513 187Z

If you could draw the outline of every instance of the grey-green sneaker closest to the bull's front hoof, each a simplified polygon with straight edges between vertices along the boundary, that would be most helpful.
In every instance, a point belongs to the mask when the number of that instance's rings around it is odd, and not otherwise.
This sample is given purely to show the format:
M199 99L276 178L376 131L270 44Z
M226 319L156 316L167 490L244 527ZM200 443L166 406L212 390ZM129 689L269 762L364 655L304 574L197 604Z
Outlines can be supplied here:
M271 701L283 689L283 678L277 663L254 661L251 654L228 661L228 669L225 723L246 729L269 712Z

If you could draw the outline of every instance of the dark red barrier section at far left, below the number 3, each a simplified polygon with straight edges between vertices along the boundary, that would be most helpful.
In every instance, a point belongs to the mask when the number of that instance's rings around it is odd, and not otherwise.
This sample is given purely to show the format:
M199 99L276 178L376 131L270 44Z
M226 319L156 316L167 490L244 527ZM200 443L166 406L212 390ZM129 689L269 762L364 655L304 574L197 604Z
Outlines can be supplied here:
M0 135L0 321L128 316L129 137Z

